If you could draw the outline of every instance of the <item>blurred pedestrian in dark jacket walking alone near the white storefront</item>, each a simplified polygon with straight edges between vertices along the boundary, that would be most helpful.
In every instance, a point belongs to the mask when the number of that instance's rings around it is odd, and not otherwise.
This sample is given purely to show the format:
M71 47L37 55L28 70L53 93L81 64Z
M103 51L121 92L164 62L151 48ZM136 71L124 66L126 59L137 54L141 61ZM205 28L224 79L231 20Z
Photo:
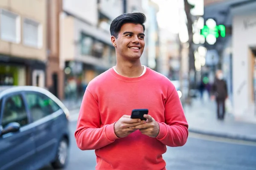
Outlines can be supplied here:
M212 99L216 100L217 116L220 120L223 120L225 116L225 100L227 96L227 83L223 79L222 71L218 70L216 71L216 78L212 85Z

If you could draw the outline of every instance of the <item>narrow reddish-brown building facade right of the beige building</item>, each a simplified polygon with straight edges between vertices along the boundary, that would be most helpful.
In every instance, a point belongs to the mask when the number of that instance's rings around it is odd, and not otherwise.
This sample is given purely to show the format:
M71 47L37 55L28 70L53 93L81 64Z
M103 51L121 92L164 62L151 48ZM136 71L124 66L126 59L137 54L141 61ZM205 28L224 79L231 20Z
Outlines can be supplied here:
M47 0L47 76L46 88L59 99L64 98L64 68L60 65L59 16L62 0Z

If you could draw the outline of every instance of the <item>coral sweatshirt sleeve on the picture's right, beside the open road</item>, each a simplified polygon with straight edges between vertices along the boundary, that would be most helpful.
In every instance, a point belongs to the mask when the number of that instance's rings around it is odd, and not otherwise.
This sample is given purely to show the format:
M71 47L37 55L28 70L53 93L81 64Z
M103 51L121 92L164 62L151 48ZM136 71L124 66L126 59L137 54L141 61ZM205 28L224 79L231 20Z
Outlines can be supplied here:
M176 89L170 91L165 102L165 122L158 123L157 139L169 147L183 146L188 138L188 123Z

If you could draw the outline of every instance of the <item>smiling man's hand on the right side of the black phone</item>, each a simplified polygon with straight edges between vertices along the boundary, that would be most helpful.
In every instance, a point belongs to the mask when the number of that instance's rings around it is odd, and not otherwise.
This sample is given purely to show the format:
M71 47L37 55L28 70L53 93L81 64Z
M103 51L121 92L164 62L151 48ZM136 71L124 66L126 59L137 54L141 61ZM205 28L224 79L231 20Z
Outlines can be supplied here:
M153 117L151 117L148 114L144 114L144 116L147 119L147 122L143 125L137 125L134 127L130 127L131 129L140 129L140 132L144 135L150 136L152 138L157 137L159 133L159 124L155 121Z

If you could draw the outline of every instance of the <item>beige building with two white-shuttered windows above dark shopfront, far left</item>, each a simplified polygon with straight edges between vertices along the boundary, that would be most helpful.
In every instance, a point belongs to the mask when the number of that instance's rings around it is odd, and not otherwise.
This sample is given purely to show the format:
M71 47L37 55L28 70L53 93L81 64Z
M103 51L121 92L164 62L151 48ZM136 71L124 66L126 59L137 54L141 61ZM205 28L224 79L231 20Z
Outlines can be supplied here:
M46 0L0 1L0 85L45 87L46 9Z

